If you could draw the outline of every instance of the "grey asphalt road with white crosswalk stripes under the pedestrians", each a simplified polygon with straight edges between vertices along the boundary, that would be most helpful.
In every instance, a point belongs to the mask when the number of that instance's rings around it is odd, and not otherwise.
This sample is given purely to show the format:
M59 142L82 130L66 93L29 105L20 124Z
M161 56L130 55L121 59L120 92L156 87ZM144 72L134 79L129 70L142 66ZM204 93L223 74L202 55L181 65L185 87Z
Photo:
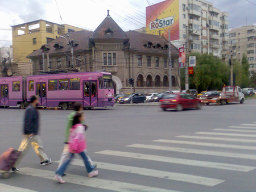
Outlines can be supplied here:
M20 172L0 178L0 191L255 191L256 100L180 112L149 104L84 110L88 152L99 175L86 177L76 156L64 184L53 177L71 110L39 112L53 163L40 166L31 148ZM19 108L0 109L0 153L19 147L23 114Z

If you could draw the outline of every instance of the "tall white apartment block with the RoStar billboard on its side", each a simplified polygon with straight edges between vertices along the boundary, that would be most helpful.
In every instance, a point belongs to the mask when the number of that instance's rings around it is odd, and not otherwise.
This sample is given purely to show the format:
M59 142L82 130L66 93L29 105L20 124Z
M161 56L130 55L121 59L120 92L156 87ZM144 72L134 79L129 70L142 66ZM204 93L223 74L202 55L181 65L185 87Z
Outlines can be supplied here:
M204 0L163 1L146 7L147 33L164 35L176 47L228 59L228 12ZM171 20L172 22L168 22ZM163 24L164 23L164 24ZM186 31L187 30L187 31Z

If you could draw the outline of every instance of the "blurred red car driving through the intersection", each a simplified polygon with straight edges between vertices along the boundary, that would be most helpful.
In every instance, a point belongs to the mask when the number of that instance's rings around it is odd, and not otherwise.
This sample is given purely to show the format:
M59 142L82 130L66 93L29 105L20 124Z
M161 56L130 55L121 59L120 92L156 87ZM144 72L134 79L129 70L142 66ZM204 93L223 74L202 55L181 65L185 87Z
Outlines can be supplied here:
M176 108L176 111L182 111L183 108L201 109L204 104L201 99L195 98L188 93L170 93L164 95L164 97L160 99L160 102L160 107L164 111L166 111L167 108Z

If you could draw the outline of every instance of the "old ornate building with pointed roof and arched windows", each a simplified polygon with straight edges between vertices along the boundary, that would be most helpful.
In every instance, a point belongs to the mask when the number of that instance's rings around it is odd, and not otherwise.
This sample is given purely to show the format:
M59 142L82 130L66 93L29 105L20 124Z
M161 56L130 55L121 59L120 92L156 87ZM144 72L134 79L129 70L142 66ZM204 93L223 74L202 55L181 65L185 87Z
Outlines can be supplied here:
M73 57L72 57L73 56ZM171 46L172 88L180 89L177 48ZM27 58L35 73L96 72L113 75L115 93L162 92L169 89L168 40L136 31L124 32L108 15L94 32L77 31L44 44Z

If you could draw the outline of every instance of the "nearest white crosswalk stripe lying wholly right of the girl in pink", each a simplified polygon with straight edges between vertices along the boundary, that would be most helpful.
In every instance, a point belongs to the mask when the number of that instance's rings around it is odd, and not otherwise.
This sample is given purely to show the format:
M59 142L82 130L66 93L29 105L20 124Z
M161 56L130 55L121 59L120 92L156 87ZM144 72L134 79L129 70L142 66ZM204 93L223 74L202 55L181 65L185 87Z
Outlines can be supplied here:
M142 153L130 153L130 152L110 151L110 150L100 151L96 153L103 154L103 155L119 156L119 157L139 158L143 160L151 160L151 161L159 161L159 162L170 162L173 164L181 164L181 165L201 166L205 168L234 170L237 172L250 172L251 170L255 169L254 166L243 166L243 165L225 164L225 163L209 162L209 161L197 161L197 160L189 160L184 158L146 155Z

